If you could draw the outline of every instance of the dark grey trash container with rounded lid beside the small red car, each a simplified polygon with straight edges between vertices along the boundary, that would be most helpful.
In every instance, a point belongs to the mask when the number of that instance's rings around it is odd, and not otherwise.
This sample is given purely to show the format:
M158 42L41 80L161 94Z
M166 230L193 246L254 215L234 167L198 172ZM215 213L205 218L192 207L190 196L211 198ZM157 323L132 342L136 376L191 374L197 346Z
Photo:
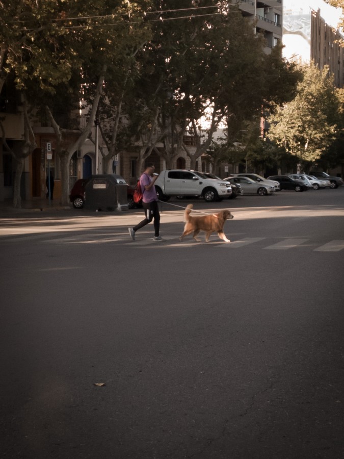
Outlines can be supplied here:
M85 186L85 209L93 211L127 210L127 185L114 174L92 175Z

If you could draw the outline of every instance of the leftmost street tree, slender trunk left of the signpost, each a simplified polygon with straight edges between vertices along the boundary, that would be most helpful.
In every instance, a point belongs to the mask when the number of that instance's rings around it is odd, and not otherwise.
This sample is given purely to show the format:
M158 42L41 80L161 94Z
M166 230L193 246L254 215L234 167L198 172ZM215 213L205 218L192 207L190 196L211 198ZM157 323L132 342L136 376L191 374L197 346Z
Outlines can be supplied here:
M72 47L59 46L65 31L59 27L62 10L61 7L58 10L56 2L44 0L38 7L37 2L31 0L14 0L1 1L0 5L0 92L5 84L14 82L22 101L24 141L18 142L15 148L9 147L2 124L4 147L11 152L16 165L13 205L20 208L23 162L36 147L29 116L33 113L31 100L35 98L31 97L28 86L36 85L36 92L49 91L70 78L70 69L78 64L78 59Z

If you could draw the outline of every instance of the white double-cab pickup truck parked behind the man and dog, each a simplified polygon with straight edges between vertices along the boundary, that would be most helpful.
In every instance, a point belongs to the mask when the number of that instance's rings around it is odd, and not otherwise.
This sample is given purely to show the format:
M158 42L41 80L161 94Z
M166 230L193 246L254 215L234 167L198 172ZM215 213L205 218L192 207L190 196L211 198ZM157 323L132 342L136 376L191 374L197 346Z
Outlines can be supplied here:
M168 200L171 196L201 196L205 201L221 201L229 198L232 189L229 182L209 179L202 172L186 169L163 170L155 181L159 199Z

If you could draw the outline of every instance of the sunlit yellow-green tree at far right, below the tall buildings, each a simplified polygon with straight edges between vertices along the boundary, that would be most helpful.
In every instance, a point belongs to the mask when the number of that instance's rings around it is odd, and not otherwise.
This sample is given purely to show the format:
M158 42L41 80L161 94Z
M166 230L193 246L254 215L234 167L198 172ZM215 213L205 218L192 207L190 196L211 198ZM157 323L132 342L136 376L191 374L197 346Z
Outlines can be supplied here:
M295 98L269 117L268 137L303 163L316 161L334 141L339 119L339 99L328 67L313 63L303 67L304 78Z

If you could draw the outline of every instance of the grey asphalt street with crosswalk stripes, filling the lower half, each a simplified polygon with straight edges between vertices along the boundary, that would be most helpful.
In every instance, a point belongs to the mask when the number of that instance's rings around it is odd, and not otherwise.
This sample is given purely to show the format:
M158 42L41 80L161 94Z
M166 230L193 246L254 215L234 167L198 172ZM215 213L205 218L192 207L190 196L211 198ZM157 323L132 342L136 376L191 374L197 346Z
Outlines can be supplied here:
M344 187L187 203L0 215L1 458L344 457Z

